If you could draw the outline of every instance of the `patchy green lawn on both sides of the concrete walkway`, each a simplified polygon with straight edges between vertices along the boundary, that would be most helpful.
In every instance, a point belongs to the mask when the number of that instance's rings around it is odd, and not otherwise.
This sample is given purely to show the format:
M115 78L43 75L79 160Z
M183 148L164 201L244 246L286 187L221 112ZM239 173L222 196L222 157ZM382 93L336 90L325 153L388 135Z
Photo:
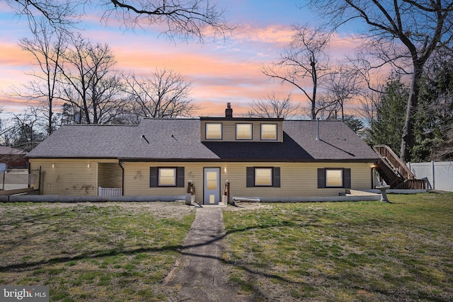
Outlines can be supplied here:
M453 301L453 194L224 210L224 263L256 301ZM195 211L178 203L0 204L0 284L51 301L167 301Z

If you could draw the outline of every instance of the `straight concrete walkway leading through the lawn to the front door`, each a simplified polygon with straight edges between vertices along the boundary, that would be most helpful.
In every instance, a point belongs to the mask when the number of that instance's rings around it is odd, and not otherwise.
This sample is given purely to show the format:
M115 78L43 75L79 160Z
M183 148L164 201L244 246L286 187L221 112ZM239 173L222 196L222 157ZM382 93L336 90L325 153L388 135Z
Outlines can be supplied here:
M197 209L180 263L164 281L171 289L168 301L253 301L227 283L228 267L221 262L224 236L222 209Z

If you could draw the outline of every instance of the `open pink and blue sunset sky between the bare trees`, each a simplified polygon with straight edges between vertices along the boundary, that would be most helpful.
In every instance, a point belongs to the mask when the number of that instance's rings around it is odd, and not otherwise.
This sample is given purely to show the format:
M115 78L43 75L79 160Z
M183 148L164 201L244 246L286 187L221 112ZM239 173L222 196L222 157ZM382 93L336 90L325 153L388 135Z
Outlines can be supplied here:
M157 28L145 27L134 32L99 21L102 11L93 9L83 25L84 36L92 42L107 43L115 54L116 69L149 74L156 68L178 71L186 81L193 83L192 97L203 109L197 115L222 115L227 102L231 102L236 116L246 113L252 100L266 98L275 92L280 98L290 91L295 101L308 106L304 96L293 87L282 85L264 76L260 66L276 62L291 39L291 25L316 25L316 15L302 0L219 0L226 8L226 19L237 28L226 40L205 44L171 42L159 37ZM21 112L28 104L23 98L8 96L12 86L21 87L33 79L28 76L34 67L33 58L18 47L21 37L30 36L24 17L14 15L4 2L0 2L0 105L4 113ZM351 30L351 28L345 28ZM331 40L331 60L352 54L358 41L352 31L337 33ZM307 84L309 85L309 84ZM59 108L57 108L58 110Z

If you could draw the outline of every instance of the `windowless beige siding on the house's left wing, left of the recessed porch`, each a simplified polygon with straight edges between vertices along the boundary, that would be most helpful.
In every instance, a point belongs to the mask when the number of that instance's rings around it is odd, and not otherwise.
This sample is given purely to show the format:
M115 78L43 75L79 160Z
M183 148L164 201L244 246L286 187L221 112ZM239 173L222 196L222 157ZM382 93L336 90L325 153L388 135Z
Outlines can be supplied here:
M45 195L97 196L98 163L117 160L30 158L30 169L41 168L42 192Z

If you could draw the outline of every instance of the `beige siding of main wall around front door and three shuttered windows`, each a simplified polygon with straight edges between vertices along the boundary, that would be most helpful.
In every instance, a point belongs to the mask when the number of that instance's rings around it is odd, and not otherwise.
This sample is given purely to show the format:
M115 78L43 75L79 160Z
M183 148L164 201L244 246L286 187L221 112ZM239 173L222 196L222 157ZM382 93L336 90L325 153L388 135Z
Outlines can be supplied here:
M149 168L185 167L185 187L149 187ZM280 167L281 187L246 187L246 167ZM231 183L231 193L241 197L338 196L344 189L318 189L318 168L350 168L351 189L372 188L372 163L125 163L125 195L185 194L187 182L195 182L195 197L203 199L203 168L220 168L222 189Z

